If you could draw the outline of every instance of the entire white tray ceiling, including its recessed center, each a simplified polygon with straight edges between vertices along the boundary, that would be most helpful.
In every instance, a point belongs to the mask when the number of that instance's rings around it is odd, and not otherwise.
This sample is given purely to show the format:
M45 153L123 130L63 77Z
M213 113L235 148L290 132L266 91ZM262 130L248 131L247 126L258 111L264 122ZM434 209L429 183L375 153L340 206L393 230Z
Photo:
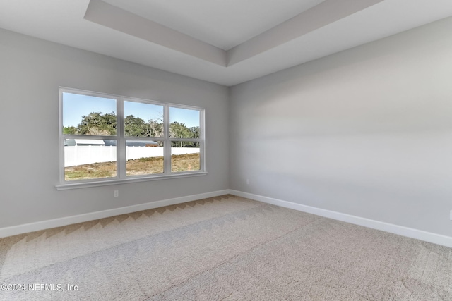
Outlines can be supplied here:
M451 0L0 0L6 30L227 86L448 16Z

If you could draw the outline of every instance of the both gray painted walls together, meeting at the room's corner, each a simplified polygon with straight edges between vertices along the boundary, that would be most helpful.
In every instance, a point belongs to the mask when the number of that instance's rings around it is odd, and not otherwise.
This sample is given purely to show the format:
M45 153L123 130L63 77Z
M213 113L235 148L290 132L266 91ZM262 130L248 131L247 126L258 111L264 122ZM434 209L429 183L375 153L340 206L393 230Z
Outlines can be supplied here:
M232 188L452 236L452 18L230 90L0 41L0 228ZM57 191L59 86L204 107L208 176Z

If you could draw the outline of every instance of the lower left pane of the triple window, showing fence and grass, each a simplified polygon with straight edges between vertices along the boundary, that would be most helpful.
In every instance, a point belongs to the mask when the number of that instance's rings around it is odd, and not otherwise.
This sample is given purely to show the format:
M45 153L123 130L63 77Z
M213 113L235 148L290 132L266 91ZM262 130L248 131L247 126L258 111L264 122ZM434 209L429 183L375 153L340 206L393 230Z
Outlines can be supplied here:
M116 140L114 142L107 146L104 140L65 139L64 180L116 177Z

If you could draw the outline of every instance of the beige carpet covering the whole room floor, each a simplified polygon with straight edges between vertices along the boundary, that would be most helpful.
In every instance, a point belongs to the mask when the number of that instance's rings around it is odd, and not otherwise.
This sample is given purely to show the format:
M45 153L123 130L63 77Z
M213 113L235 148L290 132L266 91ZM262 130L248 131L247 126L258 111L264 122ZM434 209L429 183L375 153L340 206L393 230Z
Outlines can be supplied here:
M0 239L0 300L452 300L451 251L227 195Z

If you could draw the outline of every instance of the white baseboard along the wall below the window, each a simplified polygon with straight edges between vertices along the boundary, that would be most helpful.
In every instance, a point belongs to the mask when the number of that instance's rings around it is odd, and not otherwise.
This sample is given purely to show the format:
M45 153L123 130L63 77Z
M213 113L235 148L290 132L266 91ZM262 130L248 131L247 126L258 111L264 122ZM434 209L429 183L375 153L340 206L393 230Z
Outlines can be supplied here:
M163 199L156 202L149 202L145 204L138 204L127 207L120 207L115 209L108 209L104 211L96 211L87 214L80 214L74 216L66 216L59 219L50 219L47 221L37 221L36 223L25 223L23 225L0 228L0 238L7 236L18 235L22 233L45 230L49 228L61 227L71 225L73 223L83 223L84 221L93 221L95 219L104 219L110 216L120 214L129 214L136 211L164 207L174 204L181 204L184 202L196 201L197 199L206 199L208 197L218 197L220 195L227 195L230 190L218 190L213 192L201 193L199 195L189 195L186 197L176 197L174 199Z

